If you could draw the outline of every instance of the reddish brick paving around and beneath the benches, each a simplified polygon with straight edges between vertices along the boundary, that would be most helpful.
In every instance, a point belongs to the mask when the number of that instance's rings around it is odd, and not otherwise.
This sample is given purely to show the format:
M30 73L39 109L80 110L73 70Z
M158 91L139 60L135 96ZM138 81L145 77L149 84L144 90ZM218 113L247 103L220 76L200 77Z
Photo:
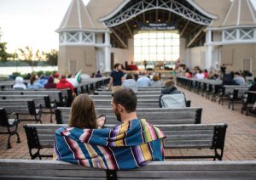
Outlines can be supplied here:
M225 139L223 160L256 160L256 118L241 115L241 105L236 105L236 110L229 110L227 104L219 105L195 93L180 89L191 100L191 106L202 107L202 123L225 122L228 124ZM43 115L43 123L49 123L49 115ZM27 149L26 135L23 126L34 121L21 121L18 132L21 143L15 143L16 138L11 138L12 149L5 149L7 135L0 135L0 158L30 159ZM6 131L0 127L0 132ZM52 149L42 149L42 153L51 154ZM208 154L207 150L175 149L166 150L166 155L202 155Z

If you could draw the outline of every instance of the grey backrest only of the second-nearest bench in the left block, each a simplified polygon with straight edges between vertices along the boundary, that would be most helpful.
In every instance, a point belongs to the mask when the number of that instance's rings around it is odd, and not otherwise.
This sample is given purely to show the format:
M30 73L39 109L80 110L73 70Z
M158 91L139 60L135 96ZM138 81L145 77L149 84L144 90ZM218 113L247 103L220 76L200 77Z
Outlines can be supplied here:
M7 113L36 115L36 106L33 99L0 99L0 107Z

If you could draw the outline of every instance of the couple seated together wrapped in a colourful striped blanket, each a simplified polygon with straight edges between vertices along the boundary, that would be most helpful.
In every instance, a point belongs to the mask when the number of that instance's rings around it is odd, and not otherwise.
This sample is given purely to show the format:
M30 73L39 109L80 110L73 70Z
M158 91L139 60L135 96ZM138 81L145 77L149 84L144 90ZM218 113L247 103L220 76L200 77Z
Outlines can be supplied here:
M90 96L76 97L68 127L55 132L54 159L109 170L132 169L164 160L165 135L147 121L137 119L136 94L131 89L119 89L113 93L111 105L121 123L102 128L106 117L96 119Z

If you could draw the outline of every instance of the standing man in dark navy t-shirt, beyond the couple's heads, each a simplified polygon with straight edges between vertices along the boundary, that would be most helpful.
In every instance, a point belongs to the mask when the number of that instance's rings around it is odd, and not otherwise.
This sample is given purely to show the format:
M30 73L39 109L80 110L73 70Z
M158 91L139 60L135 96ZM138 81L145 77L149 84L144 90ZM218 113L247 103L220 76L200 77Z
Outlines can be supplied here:
M122 82L124 81L124 72L122 70L122 65L117 63L113 65L113 71L110 74L110 81L108 88L112 87L112 92L118 90Z

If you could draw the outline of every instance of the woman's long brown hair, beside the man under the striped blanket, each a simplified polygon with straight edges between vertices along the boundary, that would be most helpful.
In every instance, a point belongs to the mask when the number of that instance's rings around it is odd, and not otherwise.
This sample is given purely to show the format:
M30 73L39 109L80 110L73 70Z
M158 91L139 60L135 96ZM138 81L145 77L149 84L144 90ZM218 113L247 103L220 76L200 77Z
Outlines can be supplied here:
M69 127L78 127L81 129L97 128L95 105L90 96L80 94L73 100L68 125Z

